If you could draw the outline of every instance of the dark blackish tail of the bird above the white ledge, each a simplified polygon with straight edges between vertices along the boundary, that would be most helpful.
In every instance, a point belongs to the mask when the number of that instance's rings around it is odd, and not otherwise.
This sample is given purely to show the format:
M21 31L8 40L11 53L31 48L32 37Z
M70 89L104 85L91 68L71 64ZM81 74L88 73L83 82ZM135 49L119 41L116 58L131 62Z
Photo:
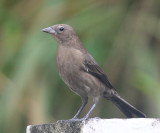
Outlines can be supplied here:
M104 98L108 99L104 96ZM109 100L112 101L128 118L145 118L146 115L135 107L130 105L127 101L122 99L119 95L113 95Z

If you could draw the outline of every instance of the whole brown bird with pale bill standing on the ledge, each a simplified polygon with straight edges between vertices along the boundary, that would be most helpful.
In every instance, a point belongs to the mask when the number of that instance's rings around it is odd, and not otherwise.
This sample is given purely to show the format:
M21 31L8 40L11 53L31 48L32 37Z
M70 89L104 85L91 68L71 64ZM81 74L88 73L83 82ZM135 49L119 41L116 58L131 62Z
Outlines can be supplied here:
M118 95L106 74L84 48L71 26L57 24L42 31L51 34L57 41L56 66L58 73L71 90L82 99L82 106L72 119L78 118L88 102L88 97L93 98L93 105L82 119L89 117L100 97L112 101L128 118L146 117L144 113Z

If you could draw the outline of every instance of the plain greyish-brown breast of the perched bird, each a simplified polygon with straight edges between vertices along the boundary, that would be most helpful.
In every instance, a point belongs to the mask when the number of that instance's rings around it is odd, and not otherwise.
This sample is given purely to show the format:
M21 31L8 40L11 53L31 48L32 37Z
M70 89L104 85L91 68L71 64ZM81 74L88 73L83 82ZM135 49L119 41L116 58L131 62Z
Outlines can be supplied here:
M56 66L60 77L71 87L79 75L83 54L74 48L59 46L56 54Z

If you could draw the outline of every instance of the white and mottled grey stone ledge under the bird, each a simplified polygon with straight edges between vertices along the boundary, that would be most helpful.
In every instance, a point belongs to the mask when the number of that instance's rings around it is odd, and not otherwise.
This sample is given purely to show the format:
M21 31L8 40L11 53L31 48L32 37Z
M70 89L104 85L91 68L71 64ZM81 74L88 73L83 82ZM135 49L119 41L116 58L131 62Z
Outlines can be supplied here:
M26 133L160 133L160 119L60 120L51 124L27 126Z

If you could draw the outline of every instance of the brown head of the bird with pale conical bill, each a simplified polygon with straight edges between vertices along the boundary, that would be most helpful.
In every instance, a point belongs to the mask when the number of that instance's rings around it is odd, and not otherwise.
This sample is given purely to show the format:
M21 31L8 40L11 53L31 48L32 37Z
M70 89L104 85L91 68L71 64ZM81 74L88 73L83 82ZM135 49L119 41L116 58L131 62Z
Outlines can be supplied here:
M42 29L43 32L49 33L57 42L67 42L76 37L73 28L66 24L56 24L48 28Z

